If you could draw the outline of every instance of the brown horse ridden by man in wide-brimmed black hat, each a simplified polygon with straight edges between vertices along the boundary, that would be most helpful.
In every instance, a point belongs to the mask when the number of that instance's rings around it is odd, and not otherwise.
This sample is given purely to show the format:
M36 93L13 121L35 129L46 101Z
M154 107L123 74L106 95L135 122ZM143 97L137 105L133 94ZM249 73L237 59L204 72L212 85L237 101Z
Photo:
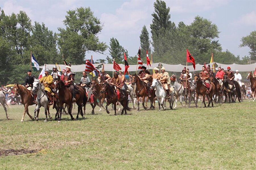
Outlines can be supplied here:
M144 82L141 81L141 79L138 77L138 75L134 74L132 76L132 85L136 84L136 89L135 89L135 94L136 94L136 98L137 98L137 104L138 104L138 109L137 111L140 110L140 100L139 98L142 97L142 106L145 110L147 110L147 108L144 106L144 102L145 102L145 97L147 96L147 89L146 89L146 85L144 85ZM151 94L151 97L149 97L149 100L151 102L150 108L155 108L155 106L153 106L153 102L154 102L154 92Z

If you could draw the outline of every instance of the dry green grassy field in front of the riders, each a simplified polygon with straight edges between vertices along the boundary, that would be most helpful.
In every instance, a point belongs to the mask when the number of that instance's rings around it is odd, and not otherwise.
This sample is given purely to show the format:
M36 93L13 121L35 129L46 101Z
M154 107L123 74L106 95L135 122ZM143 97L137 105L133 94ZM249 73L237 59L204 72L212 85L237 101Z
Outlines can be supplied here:
M8 121L1 106L0 150L38 151L0 156L0 169L255 169L255 102L215 106L113 116L88 105L86 119L60 123L44 122L44 109L21 123L23 106Z

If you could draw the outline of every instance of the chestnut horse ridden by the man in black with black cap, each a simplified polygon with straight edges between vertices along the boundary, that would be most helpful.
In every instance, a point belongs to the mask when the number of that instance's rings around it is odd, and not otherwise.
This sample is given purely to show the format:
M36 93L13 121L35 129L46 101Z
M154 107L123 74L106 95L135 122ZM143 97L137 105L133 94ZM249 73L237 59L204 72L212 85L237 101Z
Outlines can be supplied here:
M32 117L28 113L28 106L35 104L35 103L33 103L34 97L31 95L30 91L28 91L26 89L26 87L24 87L22 85L19 85L19 84L14 85L13 91L14 91L13 96L16 98L18 95L20 95L21 103L24 105L24 112L23 112L23 116L21 118L21 122L24 121L24 116L25 116L26 113L28 114L30 119L35 120L35 118ZM39 110L38 110L38 112L39 112Z

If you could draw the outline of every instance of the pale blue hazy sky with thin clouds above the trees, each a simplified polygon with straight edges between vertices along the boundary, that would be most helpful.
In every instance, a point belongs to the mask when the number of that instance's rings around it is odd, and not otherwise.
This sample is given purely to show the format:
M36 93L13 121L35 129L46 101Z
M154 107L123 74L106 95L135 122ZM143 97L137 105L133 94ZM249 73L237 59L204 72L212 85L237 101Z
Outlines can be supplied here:
M102 32L98 35L100 41L110 43L114 37L130 56L135 56L140 46L139 36L145 25L149 36L154 2L149 0L131 1L5 1L0 0L0 7L5 14L16 14L25 11L32 24L44 22L49 30L57 32L58 27L64 28L63 20L66 12L79 7L90 7L94 16L103 24ZM222 51L228 49L235 56L249 56L248 47L239 47L241 38L256 30L256 1L165 1L170 7L171 21L178 25L180 21L189 25L195 16L201 16L216 24ZM94 52L86 54L86 58L93 55L93 59L109 56L109 51L103 54ZM154 56L153 56L154 57ZM209 56L210 60L210 56Z

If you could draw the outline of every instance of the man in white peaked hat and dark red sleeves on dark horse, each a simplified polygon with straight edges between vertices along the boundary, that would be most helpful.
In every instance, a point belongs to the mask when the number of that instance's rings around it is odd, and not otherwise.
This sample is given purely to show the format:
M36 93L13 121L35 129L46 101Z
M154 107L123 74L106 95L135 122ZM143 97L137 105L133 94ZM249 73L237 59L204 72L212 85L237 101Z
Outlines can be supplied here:
M71 72L71 69L72 69L71 64L69 63L69 65L66 66L66 72L64 73L64 83L65 83L65 86L70 87L72 96L73 96L72 101L75 102L76 91L74 89L74 84L73 84L75 80L75 73Z

